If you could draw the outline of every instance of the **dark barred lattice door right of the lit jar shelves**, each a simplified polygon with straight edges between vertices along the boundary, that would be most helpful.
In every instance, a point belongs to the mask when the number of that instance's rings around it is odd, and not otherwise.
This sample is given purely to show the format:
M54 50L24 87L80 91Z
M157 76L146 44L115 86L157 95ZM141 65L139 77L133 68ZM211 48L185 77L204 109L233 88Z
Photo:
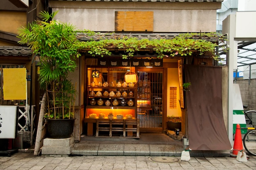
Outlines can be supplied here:
M162 132L163 69L139 68L137 119L141 132Z

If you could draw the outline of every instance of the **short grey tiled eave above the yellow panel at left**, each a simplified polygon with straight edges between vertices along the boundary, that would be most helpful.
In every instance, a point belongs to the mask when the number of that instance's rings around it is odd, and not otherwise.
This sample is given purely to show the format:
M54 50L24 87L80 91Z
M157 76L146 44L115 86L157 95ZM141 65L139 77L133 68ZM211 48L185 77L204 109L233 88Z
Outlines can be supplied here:
M32 51L28 47L0 46L0 56L29 56Z

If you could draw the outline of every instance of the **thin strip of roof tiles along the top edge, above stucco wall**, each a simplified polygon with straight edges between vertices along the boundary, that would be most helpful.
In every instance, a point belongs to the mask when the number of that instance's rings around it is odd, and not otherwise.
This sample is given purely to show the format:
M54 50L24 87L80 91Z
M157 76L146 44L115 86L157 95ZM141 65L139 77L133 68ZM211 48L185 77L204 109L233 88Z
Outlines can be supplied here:
M224 0L66 0L66 1L124 1L124 2L223 2Z

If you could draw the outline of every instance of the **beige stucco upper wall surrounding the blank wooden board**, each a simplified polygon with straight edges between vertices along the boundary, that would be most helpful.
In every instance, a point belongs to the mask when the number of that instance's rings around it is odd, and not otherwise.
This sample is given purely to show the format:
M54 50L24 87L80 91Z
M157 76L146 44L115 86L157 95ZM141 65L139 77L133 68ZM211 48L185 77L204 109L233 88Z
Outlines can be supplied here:
M49 1L55 19L77 29L115 31L115 11L153 11L154 32L214 32L221 2Z

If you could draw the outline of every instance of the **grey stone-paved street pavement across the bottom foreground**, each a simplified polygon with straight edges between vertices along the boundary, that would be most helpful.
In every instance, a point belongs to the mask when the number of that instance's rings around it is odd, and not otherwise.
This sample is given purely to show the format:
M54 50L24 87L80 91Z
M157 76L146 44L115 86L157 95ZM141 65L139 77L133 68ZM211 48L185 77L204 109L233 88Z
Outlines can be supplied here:
M231 157L181 161L180 157L163 156L34 157L33 153L18 152L0 157L0 170L256 170L256 157L250 156L247 162Z

